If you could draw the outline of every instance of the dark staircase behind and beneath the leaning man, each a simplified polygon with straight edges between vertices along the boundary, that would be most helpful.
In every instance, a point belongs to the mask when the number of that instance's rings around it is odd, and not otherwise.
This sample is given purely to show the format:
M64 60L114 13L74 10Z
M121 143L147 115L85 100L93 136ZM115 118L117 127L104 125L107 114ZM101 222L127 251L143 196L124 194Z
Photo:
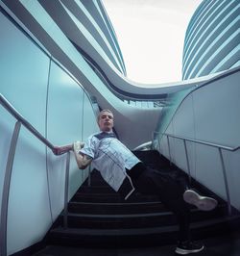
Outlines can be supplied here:
M185 186L186 175L156 151L137 151L134 154L146 164L170 172ZM240 216L232 211L228 216L227 204L196 181L192 185L205 195L214 196L218 207L211 212L192 208L194 239L214 236L239 225ZM91 173L91 186L84 185L68 204L67 226L63 216L56 221L47 235L47 243L90 247L134 247L176 243L178 225L154 195L134 192L128 200L114 192L97 170Z

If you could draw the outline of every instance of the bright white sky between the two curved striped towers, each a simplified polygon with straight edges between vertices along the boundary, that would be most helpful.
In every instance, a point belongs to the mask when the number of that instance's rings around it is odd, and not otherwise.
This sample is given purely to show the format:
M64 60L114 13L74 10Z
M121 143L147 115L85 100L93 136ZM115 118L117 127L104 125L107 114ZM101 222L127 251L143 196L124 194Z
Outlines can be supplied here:
M148 84L181 80L185 31L202 1L102 0L130 80Z

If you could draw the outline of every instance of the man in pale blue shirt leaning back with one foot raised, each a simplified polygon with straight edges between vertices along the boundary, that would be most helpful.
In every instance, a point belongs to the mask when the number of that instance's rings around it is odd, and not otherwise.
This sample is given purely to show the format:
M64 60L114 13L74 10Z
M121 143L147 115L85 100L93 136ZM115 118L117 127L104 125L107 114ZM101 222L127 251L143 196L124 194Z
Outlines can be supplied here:
M116 139L112 132L113 114L109 110L100 112L98 125L101 132L90 136L86 143L77 141L73 145L55 147L53 152L60 155L73 150L79 168L84 169L92 163L108 185L114 191L121 192L125 199L134 191L157 194L161 202L176 214L180 225L176 253L202 251L204 245L192 242L190 238L189 204L200 210L210 211L217 206L217 201L192 190L184 191L167 173L145 166L131 150Z

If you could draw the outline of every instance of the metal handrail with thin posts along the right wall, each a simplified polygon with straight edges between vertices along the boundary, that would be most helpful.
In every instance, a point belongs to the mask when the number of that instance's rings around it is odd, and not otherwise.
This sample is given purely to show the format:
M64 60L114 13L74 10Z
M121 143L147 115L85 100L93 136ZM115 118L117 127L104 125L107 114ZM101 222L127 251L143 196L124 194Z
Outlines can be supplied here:
M228 151L233 152L233 151L236 151L236 150L240 149L240 146L230 147L230 146L226 146L226 145L217 144L217 143L214 143L214 142L200 141L200 140L190 139L190 138L177 136L177 135L173 135L173 134L168 134L168 133L154 132L154 134L161 134L162 136L167 137L170 163L172 163L172 160L171 160L171 150L170 150L169 138L171 137L171 138L174 138L174 139L180 139L184 142L184 150L185 150L185 155L186 155L187 171L188 171L189 181L191 181L191 175L190 175L189 158L188 158L188 153L187 153L187 149L186 149L186 141L191 141L191 142L195 142L195 143L199 143L199 144L204 144L204 145L212 146L212 147L215 147L215 148L218 149L219 155L220 155L220 160L221 160L221 165L222 165L222 169L223 169L225 187L226 187L226 196L227 196L227 202L228 202L228 215L230 216L231 215L231 204L230 204L230 196L229 196L229 189L228 189L228 178L227 178L227 171L226 171L226 166L225 166L222 150L224 149L224 150L228 150ZM158 141L158 143L159 143L159 141Z

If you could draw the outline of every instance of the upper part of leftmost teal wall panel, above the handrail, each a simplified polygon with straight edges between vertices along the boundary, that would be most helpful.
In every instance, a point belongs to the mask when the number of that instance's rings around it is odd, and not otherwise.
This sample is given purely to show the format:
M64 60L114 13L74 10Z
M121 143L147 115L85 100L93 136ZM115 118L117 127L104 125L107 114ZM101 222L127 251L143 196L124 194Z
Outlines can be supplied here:
M0 15L0 92L44 135L49 58Z

